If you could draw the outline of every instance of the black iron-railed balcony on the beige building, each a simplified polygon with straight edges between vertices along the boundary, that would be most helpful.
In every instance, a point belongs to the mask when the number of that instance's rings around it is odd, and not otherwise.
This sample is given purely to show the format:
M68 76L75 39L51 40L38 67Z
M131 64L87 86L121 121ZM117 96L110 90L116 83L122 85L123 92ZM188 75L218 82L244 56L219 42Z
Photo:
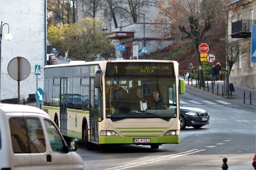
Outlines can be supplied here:
M231 38L251 37L251 26L256 20L240 20L232 23Z

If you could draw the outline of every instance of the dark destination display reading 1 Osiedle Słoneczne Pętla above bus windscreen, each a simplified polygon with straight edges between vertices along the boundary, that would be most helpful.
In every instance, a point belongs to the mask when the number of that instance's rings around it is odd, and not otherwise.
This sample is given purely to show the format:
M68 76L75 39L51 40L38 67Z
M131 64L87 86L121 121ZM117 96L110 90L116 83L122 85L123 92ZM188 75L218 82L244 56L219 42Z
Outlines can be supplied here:
M173 63L107 63L106 76L113 75L174 75Z

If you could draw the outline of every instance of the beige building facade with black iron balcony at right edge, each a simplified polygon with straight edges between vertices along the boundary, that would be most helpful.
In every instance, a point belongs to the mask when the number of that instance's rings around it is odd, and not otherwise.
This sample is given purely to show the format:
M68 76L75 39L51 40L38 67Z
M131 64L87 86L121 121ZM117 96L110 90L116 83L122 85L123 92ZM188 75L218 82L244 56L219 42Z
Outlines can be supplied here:
M247 49L231 70L229 81L244 87L256 88L256 63L251 60L251 27L256 24L256 0L232 0L226 5L229 43Z

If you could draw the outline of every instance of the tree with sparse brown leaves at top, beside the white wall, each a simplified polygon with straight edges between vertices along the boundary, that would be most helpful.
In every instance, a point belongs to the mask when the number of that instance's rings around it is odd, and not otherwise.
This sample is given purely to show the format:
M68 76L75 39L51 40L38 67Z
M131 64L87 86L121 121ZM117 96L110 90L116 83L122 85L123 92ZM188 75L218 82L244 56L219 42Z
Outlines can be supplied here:
M74 0L47 0L47 10L54 12L56 22L63 24L76 22L74 5Z

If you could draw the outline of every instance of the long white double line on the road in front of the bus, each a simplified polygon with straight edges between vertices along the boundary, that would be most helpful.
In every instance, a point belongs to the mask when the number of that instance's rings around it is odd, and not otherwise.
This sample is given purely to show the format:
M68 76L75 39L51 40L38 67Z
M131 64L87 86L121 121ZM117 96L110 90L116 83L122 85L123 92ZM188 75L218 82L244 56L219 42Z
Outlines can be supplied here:
M147 163L159 162L159 161L162 161L163 159L166 159L166 158L176 158L176 157L180 157L180 156L184 156L184 155L189 155L189 154L192 154L192 153L201 152L201 151L204 151L204 150L205 149L201 149L201 150L193 149L193 150L189 150L189 151L186 151L186 152L175 153L175 154L171 154L171 155L165 155L163 157L158 157L158 158L154 158L154 159L150 159L150 160L145 160L145 161L142 161L140 163L136 162L136 163L130 163L130 164L127 164L127 165L121 165L119 167L113 167L113 168L109 168L109 169L106 169L106 170L118 170L118 169L126 169L126 168L136 167L136 166L144 165L144 164L147 164Z

